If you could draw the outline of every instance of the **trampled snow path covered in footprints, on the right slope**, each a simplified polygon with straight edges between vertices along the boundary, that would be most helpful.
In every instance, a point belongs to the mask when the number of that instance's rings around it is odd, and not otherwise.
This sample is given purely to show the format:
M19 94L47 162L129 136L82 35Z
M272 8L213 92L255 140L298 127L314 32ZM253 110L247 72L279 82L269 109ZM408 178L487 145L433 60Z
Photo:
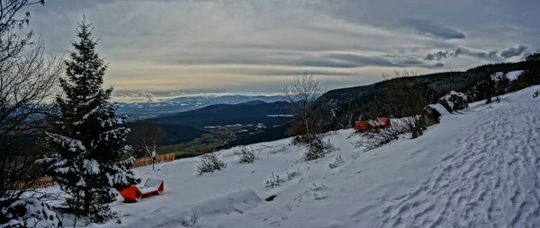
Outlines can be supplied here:
M380 226L540 226L540 105L497 106L455 138L428 180L396 197Z

